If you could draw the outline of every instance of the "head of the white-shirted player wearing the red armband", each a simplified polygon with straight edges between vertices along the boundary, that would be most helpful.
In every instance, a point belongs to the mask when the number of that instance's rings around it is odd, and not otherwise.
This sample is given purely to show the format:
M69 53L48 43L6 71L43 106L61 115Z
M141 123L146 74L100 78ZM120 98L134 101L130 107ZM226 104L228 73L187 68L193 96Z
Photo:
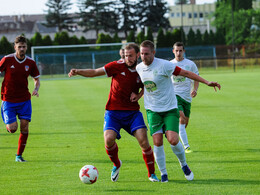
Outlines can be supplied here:
M154 59L155 49L152 41L143 41L140 45L140 55L143 63L149 66Z

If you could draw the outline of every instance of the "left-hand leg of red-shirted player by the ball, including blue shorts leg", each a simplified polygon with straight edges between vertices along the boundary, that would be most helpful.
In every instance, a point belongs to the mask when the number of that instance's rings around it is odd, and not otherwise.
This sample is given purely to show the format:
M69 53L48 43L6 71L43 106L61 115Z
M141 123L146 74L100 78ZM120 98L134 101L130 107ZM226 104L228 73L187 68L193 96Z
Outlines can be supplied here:
M106 111L104 117L104 142L106 153L113 162L113 168L111 172L111 180L113 182L118 180L119 170L121 168L122 162L118 158L118 146L116 139L120 139L120 124L117 121L117 117L112 117L114 112Z

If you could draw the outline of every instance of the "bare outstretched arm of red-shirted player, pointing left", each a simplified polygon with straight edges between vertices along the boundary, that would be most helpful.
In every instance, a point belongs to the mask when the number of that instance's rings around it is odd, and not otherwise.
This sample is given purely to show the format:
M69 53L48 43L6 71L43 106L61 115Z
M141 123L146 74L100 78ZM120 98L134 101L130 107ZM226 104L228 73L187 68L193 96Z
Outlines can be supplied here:
M80 75L83 77L97 77L105 75L106 72L103 67L97 69L71 69L69 72L69 77Z

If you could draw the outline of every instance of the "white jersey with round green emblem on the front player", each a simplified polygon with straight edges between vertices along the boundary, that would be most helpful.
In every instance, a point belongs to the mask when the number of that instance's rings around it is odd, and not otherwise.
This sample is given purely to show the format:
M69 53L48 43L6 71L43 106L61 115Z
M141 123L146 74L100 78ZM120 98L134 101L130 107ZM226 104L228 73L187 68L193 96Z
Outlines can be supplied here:
M170 61L154 58L149 66L143 62L136 70L145 86L144 107L153 112L166 112L177 108L171 76L176 65Z

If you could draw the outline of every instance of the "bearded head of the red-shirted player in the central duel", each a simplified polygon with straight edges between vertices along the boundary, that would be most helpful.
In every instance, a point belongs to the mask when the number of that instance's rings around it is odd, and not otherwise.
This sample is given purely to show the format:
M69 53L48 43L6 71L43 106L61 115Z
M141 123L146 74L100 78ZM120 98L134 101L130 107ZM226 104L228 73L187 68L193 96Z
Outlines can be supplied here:
M129 43L125 47L125 63L129 68L135 68L140 56L139 46L135 43Z

